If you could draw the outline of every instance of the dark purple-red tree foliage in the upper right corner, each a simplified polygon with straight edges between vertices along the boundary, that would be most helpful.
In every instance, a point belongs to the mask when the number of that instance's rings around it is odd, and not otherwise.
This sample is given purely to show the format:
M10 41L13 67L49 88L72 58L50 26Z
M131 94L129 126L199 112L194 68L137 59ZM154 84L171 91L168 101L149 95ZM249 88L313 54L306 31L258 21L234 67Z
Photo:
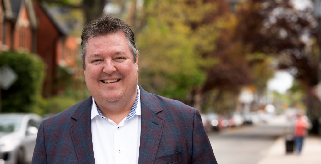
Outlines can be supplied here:
M311 38L317 37L312 1L250 0L238 6L238 37L251 53L275 56L278 68L289 70L307 86L317 83L317 59Z

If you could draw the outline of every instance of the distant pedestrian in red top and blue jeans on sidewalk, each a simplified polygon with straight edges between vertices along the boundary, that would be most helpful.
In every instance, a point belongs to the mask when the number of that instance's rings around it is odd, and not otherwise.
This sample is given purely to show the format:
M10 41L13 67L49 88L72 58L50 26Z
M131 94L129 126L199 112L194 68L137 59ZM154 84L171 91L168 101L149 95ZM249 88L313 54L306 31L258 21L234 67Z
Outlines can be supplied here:
M310 126L308 117L304 114L304 111L300 110L294 121L294 143L297 154L301 153L303 140Z

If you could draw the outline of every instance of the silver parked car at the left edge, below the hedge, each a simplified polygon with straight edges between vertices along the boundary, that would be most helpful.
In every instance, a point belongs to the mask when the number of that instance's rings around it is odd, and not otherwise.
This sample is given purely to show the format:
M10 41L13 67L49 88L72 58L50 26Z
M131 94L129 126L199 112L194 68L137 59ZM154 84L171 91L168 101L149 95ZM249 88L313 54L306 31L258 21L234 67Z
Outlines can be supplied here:
M0 157L5 164L31 163L42 117L34 113L0 114Z

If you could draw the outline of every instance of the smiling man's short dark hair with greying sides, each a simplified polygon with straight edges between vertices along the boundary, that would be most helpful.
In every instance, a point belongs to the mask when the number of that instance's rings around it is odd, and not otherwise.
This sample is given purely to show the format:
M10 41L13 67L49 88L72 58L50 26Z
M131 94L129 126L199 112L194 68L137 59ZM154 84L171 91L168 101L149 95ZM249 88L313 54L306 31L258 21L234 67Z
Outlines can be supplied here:
M117 18L111 18L111 16L105 15L105 17L98 18L97 20L90 21L82 30L81 45L82 45L82 67L85 69L85 54L87 52L87 44L89 37L95 37L97 35L115 34L122 31L126 35L126 41L129 49L134 56L134 63L137 61L138 50L135 45L134 33L131 27L123 20Z

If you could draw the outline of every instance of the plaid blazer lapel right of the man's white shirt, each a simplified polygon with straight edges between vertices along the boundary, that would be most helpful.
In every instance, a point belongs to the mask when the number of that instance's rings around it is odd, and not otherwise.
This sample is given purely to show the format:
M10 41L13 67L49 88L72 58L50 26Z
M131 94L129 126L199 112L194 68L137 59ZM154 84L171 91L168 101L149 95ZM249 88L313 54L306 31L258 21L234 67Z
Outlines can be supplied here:
M160 138L163 132L164 119L157 115L162 111L150 93L141 92L141 136L139 145L139 164L154 163Z

